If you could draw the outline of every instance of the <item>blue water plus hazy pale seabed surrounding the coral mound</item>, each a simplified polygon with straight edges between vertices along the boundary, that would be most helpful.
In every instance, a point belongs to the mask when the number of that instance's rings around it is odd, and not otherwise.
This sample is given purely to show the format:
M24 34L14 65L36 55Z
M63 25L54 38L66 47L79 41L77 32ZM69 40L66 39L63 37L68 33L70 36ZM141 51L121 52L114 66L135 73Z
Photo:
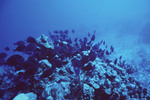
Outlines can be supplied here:
M55 30L74 31L71 39L95 33L95 43L113 46L110 58L122 56L134 69L131 76L150 91L149 0L0 0L1 52L16 54L4 49Z

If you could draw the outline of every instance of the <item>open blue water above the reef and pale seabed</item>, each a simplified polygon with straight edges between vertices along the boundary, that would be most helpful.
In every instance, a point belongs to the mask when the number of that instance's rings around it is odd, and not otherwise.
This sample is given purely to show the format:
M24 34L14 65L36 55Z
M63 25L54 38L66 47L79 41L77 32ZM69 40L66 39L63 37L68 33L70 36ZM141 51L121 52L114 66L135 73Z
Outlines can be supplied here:
M78 36L96 30L97 37L112 44L119 43L118 38L132 43L127 37L133 35L135 41L140 35L147 43L149 5L149 0L1 0L0 48L29 35L37 37L54 29L72 28Z

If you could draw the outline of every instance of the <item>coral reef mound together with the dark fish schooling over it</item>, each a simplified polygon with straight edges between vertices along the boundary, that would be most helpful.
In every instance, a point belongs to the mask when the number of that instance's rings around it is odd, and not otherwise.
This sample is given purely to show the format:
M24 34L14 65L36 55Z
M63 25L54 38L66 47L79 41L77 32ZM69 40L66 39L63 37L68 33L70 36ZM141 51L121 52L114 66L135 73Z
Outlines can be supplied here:
M72 31L72 34L75 31ZM95 43L94 34L71 39L68 30L49 32L14 43L14 52L0 53L2 100L129 100L150 99L149 92L130 74L122 56L110 59L114 47ZM49 41L48 41L49 38ZM102 48L103 47L103 48ZM5 48L9 51L9 48ZM6 59L7 58L7 59Z

